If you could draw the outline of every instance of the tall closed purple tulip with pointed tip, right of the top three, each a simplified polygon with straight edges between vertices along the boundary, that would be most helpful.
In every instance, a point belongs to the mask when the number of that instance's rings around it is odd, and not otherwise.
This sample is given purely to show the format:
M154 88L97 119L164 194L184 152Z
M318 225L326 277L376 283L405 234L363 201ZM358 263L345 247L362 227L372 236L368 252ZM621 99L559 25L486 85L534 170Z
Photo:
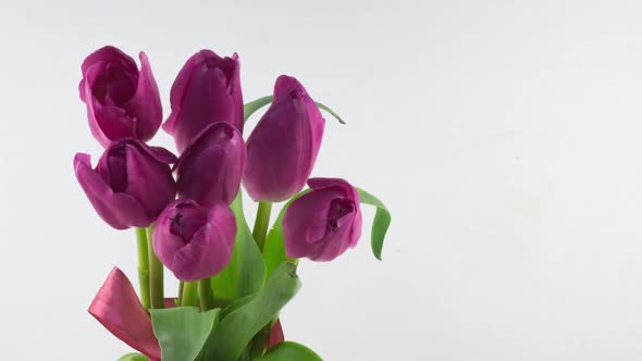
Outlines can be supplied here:
M272 105L247 140L243 185L255 201L283 201L301 190L310 176L325 120L304 86L282 75Z

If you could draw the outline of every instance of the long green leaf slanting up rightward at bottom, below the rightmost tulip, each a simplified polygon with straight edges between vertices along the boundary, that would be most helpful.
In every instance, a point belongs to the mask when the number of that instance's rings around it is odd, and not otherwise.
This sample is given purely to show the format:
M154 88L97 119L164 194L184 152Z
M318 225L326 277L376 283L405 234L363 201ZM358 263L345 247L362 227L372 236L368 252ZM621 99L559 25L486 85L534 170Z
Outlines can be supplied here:
M238 359L252 337L277 316L299 288L296 266L281 264L256 297L219 322L203 349L205 360Z

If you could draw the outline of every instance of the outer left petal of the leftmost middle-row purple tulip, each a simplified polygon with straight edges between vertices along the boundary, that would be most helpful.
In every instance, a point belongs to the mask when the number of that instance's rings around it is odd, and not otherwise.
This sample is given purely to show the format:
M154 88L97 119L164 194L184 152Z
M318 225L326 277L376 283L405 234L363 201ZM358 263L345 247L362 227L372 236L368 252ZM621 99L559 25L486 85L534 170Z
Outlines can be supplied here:
M134 197L109 188L104 179L91 169L88 154L77 153L74 157L74 171L89 202L109 225L116 229L126 229L131 226L147 227L151 223Z

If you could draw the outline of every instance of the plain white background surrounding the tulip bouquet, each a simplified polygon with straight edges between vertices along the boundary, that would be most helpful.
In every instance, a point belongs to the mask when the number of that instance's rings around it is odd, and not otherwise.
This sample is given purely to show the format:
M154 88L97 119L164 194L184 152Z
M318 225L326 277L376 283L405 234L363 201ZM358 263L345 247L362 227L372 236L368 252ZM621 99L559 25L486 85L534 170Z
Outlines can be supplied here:
M165 116L211 48L239 53L246 100L291 74L347 121L313 174L388 204L384 260L365 232L304 262L287 338L331 361L642 359L642 2L166 3L0 2L1 359L128 351L86 309L113 265L135 279L134 232L72 170L100 155L77 83L108 43L148 53Z

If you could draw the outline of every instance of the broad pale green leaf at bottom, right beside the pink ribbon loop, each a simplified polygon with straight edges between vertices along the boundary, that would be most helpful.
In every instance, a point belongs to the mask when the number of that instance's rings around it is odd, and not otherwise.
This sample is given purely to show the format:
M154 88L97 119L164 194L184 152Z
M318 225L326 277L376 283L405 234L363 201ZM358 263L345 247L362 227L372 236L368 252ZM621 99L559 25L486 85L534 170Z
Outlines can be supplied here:
M199 354L219 322L220 311L199 312L194 307L152 309L153 334L160 344L163 361L202 360Z

